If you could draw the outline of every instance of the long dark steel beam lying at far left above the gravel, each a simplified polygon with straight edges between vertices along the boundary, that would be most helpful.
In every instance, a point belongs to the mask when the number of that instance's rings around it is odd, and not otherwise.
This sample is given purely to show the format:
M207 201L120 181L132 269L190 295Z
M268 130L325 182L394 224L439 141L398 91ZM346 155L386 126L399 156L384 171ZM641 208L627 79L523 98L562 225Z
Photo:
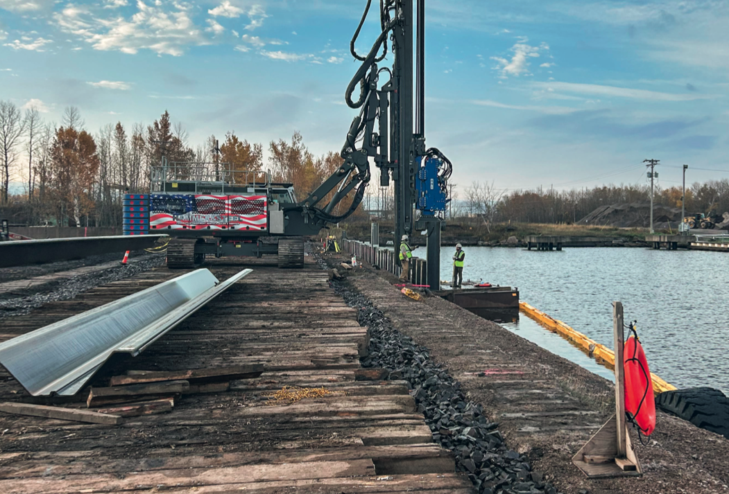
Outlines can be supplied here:
M138 251L155 246L155 242L163 237L166 235L114 235L111 237L47 238L0 242L0 267Z

